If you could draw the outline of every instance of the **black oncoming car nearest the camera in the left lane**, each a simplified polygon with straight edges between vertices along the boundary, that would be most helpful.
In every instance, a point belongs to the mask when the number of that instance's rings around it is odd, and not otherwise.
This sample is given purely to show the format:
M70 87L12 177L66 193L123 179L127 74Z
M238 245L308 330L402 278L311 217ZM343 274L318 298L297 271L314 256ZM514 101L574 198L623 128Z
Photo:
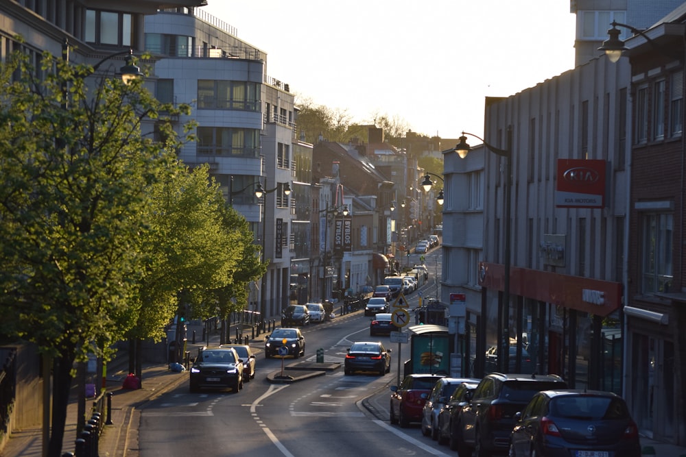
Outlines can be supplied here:
M189 391L201 388L230 388L238 392L243 388L244 365L235 349L230 347L203 348L193 362Z

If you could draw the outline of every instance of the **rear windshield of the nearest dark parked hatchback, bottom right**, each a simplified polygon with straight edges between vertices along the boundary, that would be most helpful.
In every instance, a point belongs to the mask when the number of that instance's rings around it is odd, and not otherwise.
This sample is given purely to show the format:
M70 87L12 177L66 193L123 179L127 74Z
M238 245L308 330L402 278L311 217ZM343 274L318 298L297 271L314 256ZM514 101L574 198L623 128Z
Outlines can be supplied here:
M589 395L560 396L550 402L550 412L569 419L626 419L626 404L619 398Z

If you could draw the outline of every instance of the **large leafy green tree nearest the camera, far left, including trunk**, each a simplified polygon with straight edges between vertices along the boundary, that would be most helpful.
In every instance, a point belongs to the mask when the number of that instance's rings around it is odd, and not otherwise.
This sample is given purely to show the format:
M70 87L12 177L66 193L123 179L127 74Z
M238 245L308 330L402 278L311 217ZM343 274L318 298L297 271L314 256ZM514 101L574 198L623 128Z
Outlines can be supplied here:
M0 66L0 331L54 360L48 455L58 457L74 363L106 356L141 312L150 189L178 147L169 123L158 123L165 144L145 127L188 107L49 53L40 62L15 53Z

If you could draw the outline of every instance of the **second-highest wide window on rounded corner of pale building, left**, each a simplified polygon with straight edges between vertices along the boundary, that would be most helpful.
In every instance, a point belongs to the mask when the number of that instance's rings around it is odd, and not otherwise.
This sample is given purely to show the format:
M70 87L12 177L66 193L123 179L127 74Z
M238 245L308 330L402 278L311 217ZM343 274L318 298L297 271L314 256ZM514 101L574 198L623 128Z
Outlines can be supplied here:
M259 130L198 127L198 154L205 156L259 157Z

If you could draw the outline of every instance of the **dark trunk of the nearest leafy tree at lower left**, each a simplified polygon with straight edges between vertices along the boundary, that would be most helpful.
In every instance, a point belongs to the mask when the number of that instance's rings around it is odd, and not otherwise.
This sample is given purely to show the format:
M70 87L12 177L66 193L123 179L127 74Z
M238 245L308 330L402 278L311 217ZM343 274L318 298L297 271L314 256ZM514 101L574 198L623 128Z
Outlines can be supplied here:
M62 456L64 442L64 428L67 423L67 406L69 405L69 391L71 390L71 369L73 356L62 354L55 359L52 383L52 426L50 442L47 449L48 457ZM44 373L45 382L49 382L49 373ZM77 434L79 434L77 430Z

